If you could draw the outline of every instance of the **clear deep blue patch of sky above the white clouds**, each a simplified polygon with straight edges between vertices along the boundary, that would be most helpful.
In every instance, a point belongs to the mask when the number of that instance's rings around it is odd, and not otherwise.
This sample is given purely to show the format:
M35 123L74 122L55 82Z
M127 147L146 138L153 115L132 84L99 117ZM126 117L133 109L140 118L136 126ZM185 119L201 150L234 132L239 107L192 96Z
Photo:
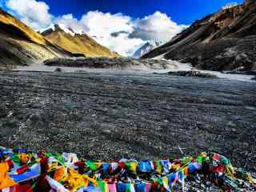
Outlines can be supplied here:
M80 18L89 10L122 13L134 18L161 11L169 15L174 22L190 25L191 22L206 14L214 13L232 0L46 0L50 12L54 15L73 13ZM242 0L235 2L242 3Z

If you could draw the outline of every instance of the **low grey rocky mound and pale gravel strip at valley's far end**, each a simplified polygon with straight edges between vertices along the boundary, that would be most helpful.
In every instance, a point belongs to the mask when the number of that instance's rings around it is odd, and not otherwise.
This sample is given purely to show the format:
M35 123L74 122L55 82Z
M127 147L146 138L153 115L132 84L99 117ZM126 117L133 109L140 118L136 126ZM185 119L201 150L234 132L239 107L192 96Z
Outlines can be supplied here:
M224 78L254 82L254 70L241 71L210 71L197 70L189 63L181 63L166 59L135 59L135 58L53 58L30 66L20 66L15 70L26 71L58 71L69 73L154 73L172 76L198 78Z

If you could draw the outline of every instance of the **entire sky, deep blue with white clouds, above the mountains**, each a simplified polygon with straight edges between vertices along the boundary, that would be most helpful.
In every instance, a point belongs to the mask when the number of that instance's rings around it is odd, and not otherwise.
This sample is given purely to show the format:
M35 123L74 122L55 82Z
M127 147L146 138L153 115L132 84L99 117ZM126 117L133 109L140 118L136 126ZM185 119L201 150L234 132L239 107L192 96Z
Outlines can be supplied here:
M34 30L62 24L86 33L119 54L146 42L167 42L196 19L232 0L0 0L0 6ZM236 2L242 3L242 0Z

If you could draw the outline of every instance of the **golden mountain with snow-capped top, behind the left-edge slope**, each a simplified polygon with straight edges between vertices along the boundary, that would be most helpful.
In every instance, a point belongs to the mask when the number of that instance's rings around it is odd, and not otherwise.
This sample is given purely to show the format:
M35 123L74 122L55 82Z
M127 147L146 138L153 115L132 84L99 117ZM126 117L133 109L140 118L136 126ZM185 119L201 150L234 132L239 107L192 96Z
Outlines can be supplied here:
M63 24L50 26L41 33L50 42L61 46L73 54L84 54L89 57L118 57L118 54L100 45L82 31L76 32Z

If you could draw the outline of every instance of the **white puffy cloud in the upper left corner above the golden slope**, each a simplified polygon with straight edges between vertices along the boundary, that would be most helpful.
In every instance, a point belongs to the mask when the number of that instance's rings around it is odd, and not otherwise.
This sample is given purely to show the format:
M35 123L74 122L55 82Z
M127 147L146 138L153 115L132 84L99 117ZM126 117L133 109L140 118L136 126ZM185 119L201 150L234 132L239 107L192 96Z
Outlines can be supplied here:
M53 16L45 2L35 0L8 0L6 7L18 15L18 18L35 30L49 26Z

